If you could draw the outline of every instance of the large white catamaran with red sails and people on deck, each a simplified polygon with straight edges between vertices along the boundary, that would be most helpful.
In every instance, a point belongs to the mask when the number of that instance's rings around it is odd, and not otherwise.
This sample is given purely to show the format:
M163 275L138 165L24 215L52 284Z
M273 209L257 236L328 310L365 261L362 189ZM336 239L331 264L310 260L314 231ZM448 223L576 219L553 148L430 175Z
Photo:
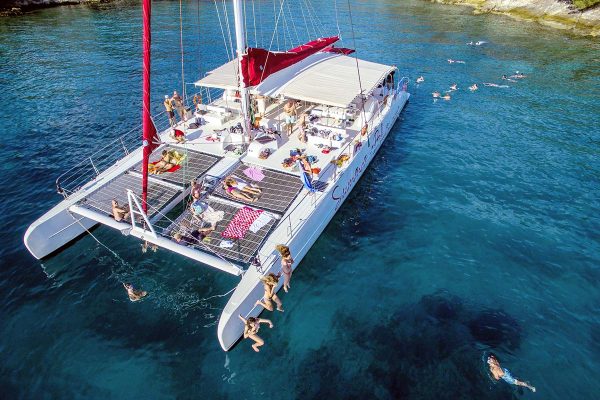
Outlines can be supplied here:
M335 47L338 36L287 51L248 47L241 0L233 10L237 57L195 82L195 109L169 125L149 111L151 4L143 1L141 145L133 129L63 173L64 199L24 238L41 259L102 224L240 276L218 323L225 351L242 336L238 315L263 311L260 278L281 270L276 246L289 247L296 269L410 96L397 67Z

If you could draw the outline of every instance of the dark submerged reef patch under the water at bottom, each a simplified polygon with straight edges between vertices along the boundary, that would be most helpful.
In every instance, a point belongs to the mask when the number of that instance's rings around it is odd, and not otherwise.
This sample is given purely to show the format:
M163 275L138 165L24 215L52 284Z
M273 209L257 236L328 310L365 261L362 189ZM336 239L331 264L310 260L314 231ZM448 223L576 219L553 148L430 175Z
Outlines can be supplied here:
M518 322L502 310L477 309L440 291L385 320L340 313L336 340L299 363L297 398L516 398L493 382L484 351L519 348Z

